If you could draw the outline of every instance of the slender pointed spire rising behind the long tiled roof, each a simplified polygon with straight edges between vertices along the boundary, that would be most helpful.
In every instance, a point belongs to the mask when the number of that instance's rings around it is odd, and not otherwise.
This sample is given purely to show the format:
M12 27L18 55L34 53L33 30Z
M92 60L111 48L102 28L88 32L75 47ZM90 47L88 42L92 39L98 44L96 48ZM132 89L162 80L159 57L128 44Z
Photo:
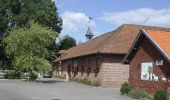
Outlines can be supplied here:
M91 29L91 21L92 21L92 17L89 17L89 22L88 22L88 29L87 29L87 33L86 33L86 39L90 40L94 35Z

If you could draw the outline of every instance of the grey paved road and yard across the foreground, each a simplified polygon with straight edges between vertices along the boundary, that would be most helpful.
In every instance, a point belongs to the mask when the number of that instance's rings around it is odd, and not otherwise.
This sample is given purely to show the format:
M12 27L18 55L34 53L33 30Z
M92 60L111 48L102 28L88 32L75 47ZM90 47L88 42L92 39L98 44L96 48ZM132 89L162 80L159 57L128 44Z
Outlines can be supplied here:
M89 87L75 82L0 80L0 100L130 100L119 94L119 89Z

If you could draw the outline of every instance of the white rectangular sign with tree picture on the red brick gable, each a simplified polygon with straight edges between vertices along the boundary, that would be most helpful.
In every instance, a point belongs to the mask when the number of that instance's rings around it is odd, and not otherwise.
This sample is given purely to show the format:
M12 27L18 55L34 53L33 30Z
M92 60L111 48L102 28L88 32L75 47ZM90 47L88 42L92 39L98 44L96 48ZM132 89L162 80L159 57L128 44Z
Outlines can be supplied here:
M153 63L142 63L141 64L141 80L152 80L153 76Z

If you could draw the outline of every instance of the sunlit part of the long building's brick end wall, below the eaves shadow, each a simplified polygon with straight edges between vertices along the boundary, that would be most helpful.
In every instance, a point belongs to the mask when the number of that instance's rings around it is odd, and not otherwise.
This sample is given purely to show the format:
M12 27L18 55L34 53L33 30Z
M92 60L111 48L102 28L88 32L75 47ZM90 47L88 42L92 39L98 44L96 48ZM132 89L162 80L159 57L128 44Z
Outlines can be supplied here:
M102 87L120 87L128 82L129 66L120 63L102 63L101 70Z

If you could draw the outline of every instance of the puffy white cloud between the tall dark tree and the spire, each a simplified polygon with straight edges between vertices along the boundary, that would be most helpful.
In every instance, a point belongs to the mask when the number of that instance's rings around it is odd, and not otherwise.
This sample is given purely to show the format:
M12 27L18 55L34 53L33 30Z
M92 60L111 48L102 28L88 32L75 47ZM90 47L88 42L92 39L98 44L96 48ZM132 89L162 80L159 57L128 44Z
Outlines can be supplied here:
M81 12L66 11L61 15L63 19L62 33L69 34L87 28L88 16ZM95 23L93 22L93 26Z

